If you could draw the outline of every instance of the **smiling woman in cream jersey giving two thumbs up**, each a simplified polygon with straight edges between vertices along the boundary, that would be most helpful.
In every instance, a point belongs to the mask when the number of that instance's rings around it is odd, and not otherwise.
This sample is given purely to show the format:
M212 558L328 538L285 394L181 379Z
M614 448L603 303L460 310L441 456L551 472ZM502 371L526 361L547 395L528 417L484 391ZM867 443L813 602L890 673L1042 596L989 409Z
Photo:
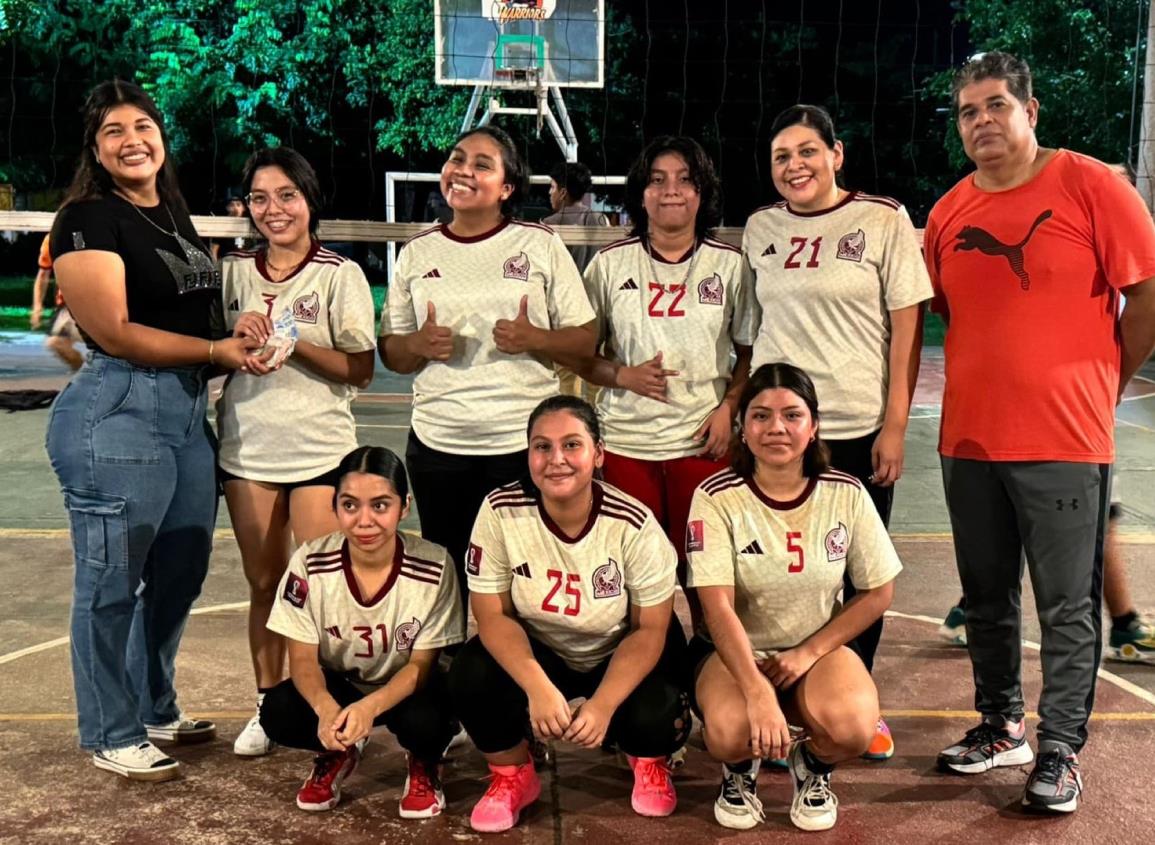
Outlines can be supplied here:
M557 392L553 361L594 346L561 238L513 217L527 181L501 129L459 137L441 169L453 222L405 244L381 316L385 366L417 374L405 464L422 534L459 570L485 494L524 471L522 422Z

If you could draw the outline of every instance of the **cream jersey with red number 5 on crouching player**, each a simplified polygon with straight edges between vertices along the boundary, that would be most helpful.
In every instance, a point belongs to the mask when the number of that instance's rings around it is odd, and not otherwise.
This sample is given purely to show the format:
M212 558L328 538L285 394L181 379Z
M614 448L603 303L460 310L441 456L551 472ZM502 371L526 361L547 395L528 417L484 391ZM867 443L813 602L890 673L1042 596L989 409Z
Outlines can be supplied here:
M862 484L829 470L777 502L723 470L694 491L686 526L690 586L732 586L755 652L798 645L841 608L842 575L873 590L902 570Z

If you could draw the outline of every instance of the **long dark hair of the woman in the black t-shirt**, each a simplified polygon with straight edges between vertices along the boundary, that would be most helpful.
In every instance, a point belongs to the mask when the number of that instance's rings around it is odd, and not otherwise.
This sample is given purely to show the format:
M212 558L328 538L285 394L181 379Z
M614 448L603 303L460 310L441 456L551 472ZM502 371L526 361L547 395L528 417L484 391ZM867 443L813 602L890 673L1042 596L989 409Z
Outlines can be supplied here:
M112 193L116 184L109 175L109 171L96 157L96 133L100 129L100 124L104 122L109 112L121 105L140 109L156 124L157 130L161 133L161 143L164 144L164 164L156 172L156 193L164 204L187 214L188 205L185 203L185 197L180 194L180 185L177 182L177 166L170 155L169 135L164 130L164 118L161 117L161 110L156 107L156 103L144 92L143 88L125 80L102 82L89 92L88 99L84 100L84 107L81 110L84 115L84 136L80 162L60 207L64 208L74 202L94 200Z

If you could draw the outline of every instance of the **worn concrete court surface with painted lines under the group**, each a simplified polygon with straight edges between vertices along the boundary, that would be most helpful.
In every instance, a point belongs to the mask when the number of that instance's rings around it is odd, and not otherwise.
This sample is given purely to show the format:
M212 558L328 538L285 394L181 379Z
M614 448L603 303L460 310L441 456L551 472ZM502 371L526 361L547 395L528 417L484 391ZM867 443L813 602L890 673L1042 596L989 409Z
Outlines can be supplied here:
M5 342L7 339L7 343ZM35 338L33 338L35 339ZM1153 373L1155 375L1155 373ZM35 342L0 337L0 389L59 387L66 375ZM1085 803L1068 817L1029 817L1018 809L1026 769L977 778L933 769L934 754L975 720L964 650L939 641L938 620L957 598L957 576L942 503L937 439L941 358L929 350L908 436L906 474L892 531L907 567L879 652L875 679L897 753L882 764L839 769L840 821L828 833L805 835L787 816L785 776L763 771L759 794L767 823L738 833L720 828L711 803L718 767L696 733L676 776L679 809L643 820L628 807L629 772L612 755L558 747L543 770L543 794L522 823L494 842L655 843L722 840L954 843L979 836L1014 843L1150 842L1155 797L1145 778L1155 753L1155 666L1106 664L1091 740L1081 755ZM1119 409L1117 489L1126 522L1123 552L1140 607L1155 607L1155 399L1137 382ZM402 451L408 383L379 373L357 403L363 442ZM468 745L452 749L446 769L447 813L402 822L403 779L388 733L374 734L338 808L306 814L293 794L310 755L280 750L260 760L231 754L251 713L252 679L245 646L244 578L222 514L213 567L185 637L179 665L184 708L217 720L219 738L173 749L181 778L135 784L96 770L75 746L67 616L72 561L59 492L43 451L46 411L2 417L0 436L0 843L453 843L480 842L468 827L485 788L484 764ZM409 528L416 529L416 518ZM1024 637L1037 642L1033 601L1024 600ZM1040 675L1024 652L1028 705ZM1031 723L1034 724L1034 723ZM1127 761L1127 762L1124 762ZM1120 763L1123 767L1120 768Z

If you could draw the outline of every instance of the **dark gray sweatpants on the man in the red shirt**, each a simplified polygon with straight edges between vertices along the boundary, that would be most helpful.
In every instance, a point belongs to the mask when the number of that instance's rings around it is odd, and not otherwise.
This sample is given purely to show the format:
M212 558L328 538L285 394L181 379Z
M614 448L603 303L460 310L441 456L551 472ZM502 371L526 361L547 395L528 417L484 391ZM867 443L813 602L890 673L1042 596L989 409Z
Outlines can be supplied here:
M1110 464L942 457L954 551L967 597L975 708L1022 718L1022 560L1043 630L1041 746L1079 750L1102 651L1103 537Z

